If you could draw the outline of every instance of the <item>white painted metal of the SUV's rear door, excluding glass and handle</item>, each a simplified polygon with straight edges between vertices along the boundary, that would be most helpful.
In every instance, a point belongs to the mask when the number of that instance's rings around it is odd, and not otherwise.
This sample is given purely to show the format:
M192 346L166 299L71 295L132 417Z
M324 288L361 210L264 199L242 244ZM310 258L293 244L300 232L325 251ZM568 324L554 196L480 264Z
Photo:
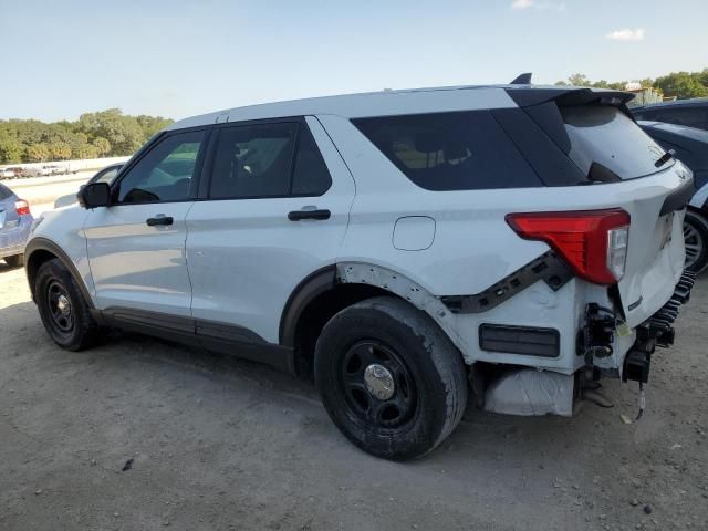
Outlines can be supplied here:
M187 218L187 262L195 319L243 326L271 343L295 287L333 264L347 230L354 181L320 123L308 125L332 176L320 197L198 201ZM291 221L306 207L325 220Z

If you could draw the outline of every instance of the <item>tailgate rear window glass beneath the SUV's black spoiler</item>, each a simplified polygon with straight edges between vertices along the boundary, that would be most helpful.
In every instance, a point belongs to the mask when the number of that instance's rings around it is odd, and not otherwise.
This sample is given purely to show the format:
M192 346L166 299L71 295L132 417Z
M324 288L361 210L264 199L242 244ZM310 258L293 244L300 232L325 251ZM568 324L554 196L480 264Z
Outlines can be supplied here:
M571 139L569 157L591 181L634 179L674 164L657 168L654 163L665 150L616 107L579 105L561 107L561 114Z

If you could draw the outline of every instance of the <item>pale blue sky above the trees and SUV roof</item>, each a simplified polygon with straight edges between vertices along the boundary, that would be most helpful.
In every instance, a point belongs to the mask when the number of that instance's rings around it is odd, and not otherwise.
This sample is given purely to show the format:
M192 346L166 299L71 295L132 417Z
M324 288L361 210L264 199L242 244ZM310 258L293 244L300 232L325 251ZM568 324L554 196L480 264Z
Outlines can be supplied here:
M0 0L0 119L708 67L707 0Z

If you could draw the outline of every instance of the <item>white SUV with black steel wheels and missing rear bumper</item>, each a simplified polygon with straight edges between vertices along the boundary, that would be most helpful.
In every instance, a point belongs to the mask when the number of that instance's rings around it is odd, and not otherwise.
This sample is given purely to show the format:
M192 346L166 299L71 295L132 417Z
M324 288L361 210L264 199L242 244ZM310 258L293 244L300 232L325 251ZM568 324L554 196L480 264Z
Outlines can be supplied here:
M25 251L51 337L103 326L313 376L389 459L478 407L571 415L645 383L693 275L693 176L621 92L530 85L256 105L158 134Z

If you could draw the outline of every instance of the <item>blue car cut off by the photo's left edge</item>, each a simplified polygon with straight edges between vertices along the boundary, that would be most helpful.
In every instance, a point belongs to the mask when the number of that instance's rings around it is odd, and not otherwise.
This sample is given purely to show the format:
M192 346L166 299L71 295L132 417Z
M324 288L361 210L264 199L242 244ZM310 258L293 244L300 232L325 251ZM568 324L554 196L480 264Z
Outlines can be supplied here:
M0 184L0 259L11 268L23 264L24 243L33 220L30 204Z

